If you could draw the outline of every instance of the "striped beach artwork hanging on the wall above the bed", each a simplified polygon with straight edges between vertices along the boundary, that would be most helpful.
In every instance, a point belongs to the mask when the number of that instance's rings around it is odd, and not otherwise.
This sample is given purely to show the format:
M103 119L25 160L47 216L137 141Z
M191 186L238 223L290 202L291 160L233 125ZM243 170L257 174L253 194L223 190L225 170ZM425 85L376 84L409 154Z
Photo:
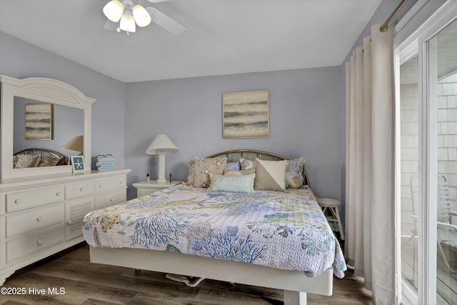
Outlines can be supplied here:
M268 90L222 94L222 138L270 136Z

